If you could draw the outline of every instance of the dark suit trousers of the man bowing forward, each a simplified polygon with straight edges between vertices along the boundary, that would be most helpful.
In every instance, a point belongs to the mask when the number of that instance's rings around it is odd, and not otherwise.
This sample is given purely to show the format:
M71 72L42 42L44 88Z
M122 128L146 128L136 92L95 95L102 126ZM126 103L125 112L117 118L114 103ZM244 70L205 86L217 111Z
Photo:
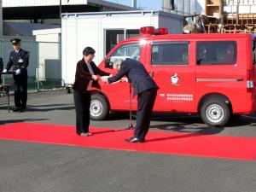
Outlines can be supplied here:
M149 129L157 88L145 90L137 95L137 120L134 137L144 140Z

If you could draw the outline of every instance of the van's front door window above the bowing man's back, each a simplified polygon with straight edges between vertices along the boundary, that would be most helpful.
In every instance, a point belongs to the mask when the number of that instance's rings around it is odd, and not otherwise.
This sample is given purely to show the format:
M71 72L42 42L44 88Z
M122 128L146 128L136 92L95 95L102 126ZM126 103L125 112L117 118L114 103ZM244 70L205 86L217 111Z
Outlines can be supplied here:
M124 44L119 48L115 49L113 54L110 55L110 61L115 61L116 59L125 60L126 58L139 60L141 53L140 44Z

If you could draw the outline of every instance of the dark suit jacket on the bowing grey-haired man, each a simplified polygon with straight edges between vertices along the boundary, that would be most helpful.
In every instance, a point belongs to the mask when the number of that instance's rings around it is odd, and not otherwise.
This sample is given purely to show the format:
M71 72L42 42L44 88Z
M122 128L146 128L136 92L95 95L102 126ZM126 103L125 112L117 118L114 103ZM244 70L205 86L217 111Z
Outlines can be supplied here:
M124 62L122 62L119 73L111 78L108 78L108 83L111 84L118 81L124 76L126 76L129 82L133 84L133 96L136 96L145 90L159 88L157 84L155 84L154 80L148 75L148 72L143 67L143 64L139 61L126 59Z

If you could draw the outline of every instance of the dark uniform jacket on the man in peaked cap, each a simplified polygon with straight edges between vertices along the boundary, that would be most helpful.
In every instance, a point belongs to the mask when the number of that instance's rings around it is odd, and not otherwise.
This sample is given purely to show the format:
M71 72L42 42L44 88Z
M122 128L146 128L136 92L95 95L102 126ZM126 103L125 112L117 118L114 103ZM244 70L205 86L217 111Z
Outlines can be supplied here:
M20 79L27 79L27 71L26 67L29 63L29 55L26 50L20 49L18 53L15 52L15 50L10 52L9 55L9 61L7 63L6 69L9 71L11 67L13 67L13 71L15 72L17 69L20 69L20 74L15 75L14 73L14 79L20 80Z

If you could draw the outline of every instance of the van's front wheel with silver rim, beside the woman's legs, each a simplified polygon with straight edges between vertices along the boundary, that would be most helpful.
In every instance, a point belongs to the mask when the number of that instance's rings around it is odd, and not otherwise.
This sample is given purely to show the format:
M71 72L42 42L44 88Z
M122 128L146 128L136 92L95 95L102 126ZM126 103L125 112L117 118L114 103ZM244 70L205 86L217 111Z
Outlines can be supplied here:
M90 119L103 120L109 113L109 105L105 96L96 93L91 95L90 99Z

